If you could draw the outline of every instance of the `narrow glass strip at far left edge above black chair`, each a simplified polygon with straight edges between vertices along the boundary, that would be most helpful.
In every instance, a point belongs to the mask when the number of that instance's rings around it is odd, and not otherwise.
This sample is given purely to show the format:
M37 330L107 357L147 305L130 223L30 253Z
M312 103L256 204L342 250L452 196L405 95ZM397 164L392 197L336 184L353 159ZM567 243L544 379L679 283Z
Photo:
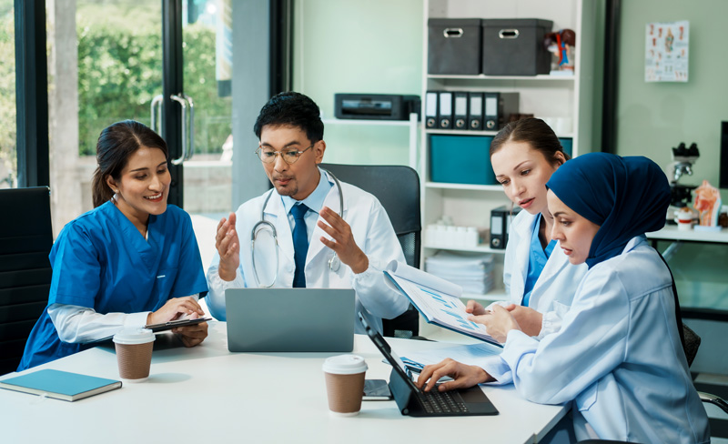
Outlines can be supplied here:
M17 187L15 9L0 0L0 188Z

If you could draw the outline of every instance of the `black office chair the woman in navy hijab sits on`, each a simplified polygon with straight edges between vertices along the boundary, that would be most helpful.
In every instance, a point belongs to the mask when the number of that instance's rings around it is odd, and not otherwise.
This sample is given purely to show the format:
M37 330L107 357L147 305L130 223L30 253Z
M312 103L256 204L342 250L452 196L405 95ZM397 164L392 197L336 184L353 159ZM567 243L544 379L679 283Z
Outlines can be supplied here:
M657 254L660 255L660 258L665 264L665 267L667 267L667 269L670 271L670 277L672 278L672 296L675 298L675 319L677 320L678 332L680 333L680 340L682 342L682 351L685 352L685 358L687 358L688 367L690 367L691 365L693 365L693 360L698 354L698 348L700 347L702 339L700 338L700 336L698 336L697 333L693 331L693 329L682 323L680 300L677 295L675 278L672 276L672 269L667 264L667 261L664 257L662 257L662 254L659 251L657 251ZM698 395L703 402L718 406L719 408L723 409L725 413L728 413L728 404L726 404L725 401L720 397L717 397L710 393L704 393L702 391L698 391ZM725 419L709 418L708 421L711 425L712 438L728 438L728 425L726 424ZM613 441L607 439L585 439L579 441L578 444L612 444L619 442L624 441Z

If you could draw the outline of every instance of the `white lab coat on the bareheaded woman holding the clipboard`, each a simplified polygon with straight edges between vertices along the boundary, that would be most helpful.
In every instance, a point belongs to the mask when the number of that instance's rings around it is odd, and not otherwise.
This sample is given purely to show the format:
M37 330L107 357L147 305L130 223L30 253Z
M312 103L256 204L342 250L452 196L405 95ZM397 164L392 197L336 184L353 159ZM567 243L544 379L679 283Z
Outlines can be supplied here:
M540 217L541 214L534 216L528 211L521 211L513 218L503 264L503 284L509 299L499 302L502 306L511 303L521 305L529 273L533 224ZM561 328L561 318L571 307L571 300L586 271L585 264L571 265L559 245L553 248L529 299L529 307L543 315L538 338Z

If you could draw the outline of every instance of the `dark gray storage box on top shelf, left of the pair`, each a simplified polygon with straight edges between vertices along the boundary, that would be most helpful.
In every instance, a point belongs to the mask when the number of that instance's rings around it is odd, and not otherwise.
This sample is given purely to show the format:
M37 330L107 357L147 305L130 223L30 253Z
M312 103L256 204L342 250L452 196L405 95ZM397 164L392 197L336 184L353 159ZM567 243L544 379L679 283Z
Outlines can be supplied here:
M480 74L480 18L428 20L428 74Z

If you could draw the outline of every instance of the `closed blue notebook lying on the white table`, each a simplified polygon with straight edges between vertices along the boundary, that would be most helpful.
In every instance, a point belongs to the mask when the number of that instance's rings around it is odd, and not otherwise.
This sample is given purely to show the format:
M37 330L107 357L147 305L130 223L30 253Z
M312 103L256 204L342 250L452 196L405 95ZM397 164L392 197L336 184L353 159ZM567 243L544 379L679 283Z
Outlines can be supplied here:
M0 388L48 398L75 401L121 388L121 381L80 375L60 370L38 370L23 376L0 380Z

